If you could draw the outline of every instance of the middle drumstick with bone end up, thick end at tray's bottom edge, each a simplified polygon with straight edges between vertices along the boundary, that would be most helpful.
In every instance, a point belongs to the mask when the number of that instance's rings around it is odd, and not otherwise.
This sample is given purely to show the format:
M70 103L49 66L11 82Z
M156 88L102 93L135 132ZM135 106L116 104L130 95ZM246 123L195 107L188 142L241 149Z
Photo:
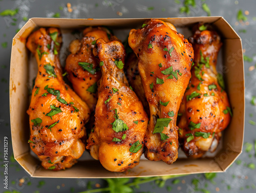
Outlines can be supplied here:
M125 51L118 40L96 41L100 61L95 127L88 140L91 156L110 171L125 171L139 163L148 118L123 72Z

